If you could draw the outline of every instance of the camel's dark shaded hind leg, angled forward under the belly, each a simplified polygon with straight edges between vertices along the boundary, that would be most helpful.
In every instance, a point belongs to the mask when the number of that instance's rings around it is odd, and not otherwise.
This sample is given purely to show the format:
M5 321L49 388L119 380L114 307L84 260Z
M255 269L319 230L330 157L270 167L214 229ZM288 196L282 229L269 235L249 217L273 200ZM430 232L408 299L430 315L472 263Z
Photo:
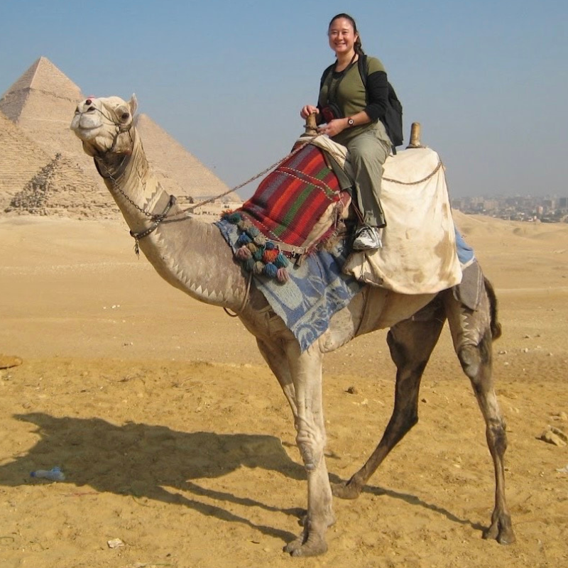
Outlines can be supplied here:
M332 486L334 496L344 499L359 497L383 459L418 422L420 380L444 322L444 308L436 297L413 318L396 324L388 332L388 346L397 368L393 415L381 442L365 465L349 481Z

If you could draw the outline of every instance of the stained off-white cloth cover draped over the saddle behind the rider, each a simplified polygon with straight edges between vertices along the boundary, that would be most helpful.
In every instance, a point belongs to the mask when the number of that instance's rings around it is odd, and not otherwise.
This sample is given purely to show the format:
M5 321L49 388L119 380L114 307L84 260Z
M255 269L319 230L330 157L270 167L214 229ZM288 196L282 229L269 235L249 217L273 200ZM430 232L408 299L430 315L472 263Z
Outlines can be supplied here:
M344 146L318 136L314 143L341 164ZM351 173L349 160L344 168ZM444 167L430 148L409 148L387 158L381 184L387 226L383 247L354 251L343 271L364 283L401 294L430 294L461 282Z

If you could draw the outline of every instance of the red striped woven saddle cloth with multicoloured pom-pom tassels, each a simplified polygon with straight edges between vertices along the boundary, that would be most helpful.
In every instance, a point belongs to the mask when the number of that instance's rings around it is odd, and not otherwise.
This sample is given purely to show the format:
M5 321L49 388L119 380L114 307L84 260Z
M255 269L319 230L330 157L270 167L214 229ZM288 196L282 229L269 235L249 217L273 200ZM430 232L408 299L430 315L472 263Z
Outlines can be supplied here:
M288 280L289 258L312 253L334 234L351 200L327 151L312 143L295 148L242 207L222 217L239 229L235 256L244 268L280 282Z

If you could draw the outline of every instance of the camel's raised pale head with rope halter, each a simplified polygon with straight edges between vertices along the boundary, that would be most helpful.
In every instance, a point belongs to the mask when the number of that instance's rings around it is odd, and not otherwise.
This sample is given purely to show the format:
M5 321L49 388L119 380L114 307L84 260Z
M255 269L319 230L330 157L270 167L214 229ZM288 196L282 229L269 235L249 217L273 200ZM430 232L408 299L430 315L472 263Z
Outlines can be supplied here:
M132 136L129 131L137 106L134 94L129 102L119 97L89 97L77 104L71 130L81 139L88 155L131 153Z

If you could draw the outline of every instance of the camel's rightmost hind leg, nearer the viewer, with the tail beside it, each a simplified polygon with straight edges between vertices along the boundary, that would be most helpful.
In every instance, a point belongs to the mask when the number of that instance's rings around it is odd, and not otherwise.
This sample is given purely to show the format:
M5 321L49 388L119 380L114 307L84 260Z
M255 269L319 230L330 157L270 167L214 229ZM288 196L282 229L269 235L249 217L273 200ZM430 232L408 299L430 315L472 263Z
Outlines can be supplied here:
M496 297L491 284L486 280L483 294L476 310L458 302L450 291L444 293L449 328L454 349L464 373L469 377L474 393L484 415L486 438L495 468L495 508L491 526L484 538L496 539L501 544L515 542L510 514L505 499L505 475L503 456L507 449L506 427L497 403L491 375L492 342L501 334L497 322Z

